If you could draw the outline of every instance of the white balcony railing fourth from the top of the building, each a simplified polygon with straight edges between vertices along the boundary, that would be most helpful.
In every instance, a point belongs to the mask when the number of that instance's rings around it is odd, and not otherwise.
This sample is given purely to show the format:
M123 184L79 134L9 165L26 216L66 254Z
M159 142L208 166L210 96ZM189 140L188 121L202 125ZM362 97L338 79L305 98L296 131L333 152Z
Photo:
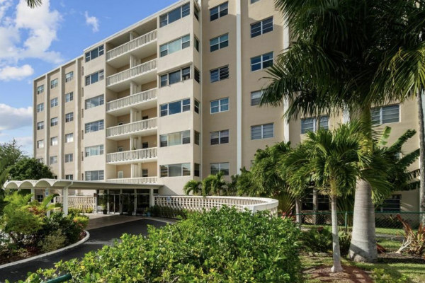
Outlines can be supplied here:
M108 127L106 137L115 141L128 139L132 135L150 136L157 133L157 118L137 121L125 125Z

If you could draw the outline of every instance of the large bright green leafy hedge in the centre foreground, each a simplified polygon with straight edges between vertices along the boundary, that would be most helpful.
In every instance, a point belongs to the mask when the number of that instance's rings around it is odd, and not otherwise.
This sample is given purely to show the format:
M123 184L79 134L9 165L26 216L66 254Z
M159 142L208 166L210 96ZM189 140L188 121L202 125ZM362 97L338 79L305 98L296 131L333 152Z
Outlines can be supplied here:
M123 235L82 260L60 262L26 282L71 273L70 282L300 282L299 229L266 213L222 208L149 236Z

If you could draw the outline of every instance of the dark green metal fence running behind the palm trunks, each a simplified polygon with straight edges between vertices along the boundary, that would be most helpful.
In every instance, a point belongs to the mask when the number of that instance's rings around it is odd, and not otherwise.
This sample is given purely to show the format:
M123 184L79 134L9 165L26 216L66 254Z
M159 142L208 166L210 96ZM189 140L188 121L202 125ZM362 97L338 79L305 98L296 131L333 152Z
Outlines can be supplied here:
M385 229L397 229L402 231L403 225L397 219L399 214L402 219L412 226L413 229L417 229L420 223L421 215L425 212L375 212L375 227L377 233L390 233L392 231L385 231ZM317 213L302 213L295 214L294 217L300 215L301 224L303 225L319 225L319 226L330 226L331 225L331 212L317 212ZM348 229L353 226L353 212L338 212L338 225L342 228Z

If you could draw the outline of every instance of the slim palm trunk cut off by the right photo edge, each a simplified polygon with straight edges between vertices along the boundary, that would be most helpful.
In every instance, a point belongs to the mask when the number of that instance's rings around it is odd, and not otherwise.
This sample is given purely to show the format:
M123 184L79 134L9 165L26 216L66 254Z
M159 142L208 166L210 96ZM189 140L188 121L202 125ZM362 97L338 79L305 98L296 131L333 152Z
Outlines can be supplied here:
M422 105L422 89L416 93L419 116L419 166L420 166L420 185L419 185L419 218L422 225L425 225L425 137L424 137L424 108Z

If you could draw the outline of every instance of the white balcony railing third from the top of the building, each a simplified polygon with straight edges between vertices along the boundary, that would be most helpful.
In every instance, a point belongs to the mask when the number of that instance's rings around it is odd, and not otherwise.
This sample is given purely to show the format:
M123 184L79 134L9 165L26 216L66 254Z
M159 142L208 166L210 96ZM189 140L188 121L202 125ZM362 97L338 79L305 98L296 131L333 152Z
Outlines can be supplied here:
M158 88L152 88L149 91L112 100L106 103L106 111L112 115L124 115L130 111L129 108L146 110L157 107L157 92Z

